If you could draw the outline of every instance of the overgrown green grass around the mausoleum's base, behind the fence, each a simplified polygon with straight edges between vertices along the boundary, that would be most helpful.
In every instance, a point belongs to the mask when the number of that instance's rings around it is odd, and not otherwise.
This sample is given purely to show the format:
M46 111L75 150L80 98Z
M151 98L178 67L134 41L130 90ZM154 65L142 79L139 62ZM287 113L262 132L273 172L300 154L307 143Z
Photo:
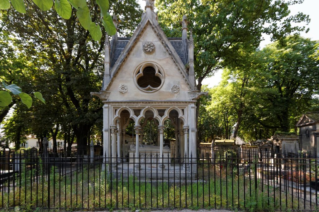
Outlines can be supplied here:
M38 177L38 187L35 181L31 183L34 171L21 174L21 188L19 178L16 178L16 188L11 187L10 193L0 192L0 208L20 208L33 210L39 208L51 209L151 209L151 208L189 208L189 209L246 209L249 211L275 211L297 208L297 200L292 202L291 195L282 198L279 205L279 190L262 185L252 178L241 174L239 177L228 174L225 170L198 168L198 175L204 182L194 180L192 183L179 184L179 180L163 182L161 180L138 181L133 176L127 177L119 174L118 180L99 168L83 169L72 176L60 176L51 168L50 181ZM94 173L95 171L95 173ZM228 170L229 173L229 170ZM221 174L221 177L220 177ZM226 177L227 176L227 177ZM112 183L111 183L111 177ZM233 178L232 178L233 177ZM27 179L27 181L25 181ZM233 180L232 180L233 179ZM43 181L43 186L42 186ZM12 181L11 181L12 183ZM48 189L50 186L50 189ZM239 189L238 189L239 188ZM268 193L269 190L269 193ZM2 190L1 190L2 191ZM13 193L15 198L13 198ZM38 195L36 195L38 194ZM42 197L43 194L43 197ZM269 195L268 195L269 194ZM275 195L275 198L274 198ZM2 197L3 196L3 197ZM268 196L270 196L268 198ZM284 194L282 193L282 196ZM245 198L244 198L245 197ZM286 205L288 207L286 207Z

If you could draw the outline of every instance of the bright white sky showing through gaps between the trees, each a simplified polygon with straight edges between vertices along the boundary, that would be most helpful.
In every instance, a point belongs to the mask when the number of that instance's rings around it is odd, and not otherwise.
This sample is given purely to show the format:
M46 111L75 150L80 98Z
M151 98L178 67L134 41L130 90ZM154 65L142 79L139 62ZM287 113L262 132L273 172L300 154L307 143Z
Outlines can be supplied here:
M145 1L138 0L141 8L145 8ZM310 23L308 28L310 29L308 33L302 32L300 33L302 36L306 38L311 38L312 40L319 40L319 0L304 0L302 4L296 4L289 7L291 13L290 15L295 15L298 12L303 12L304 14L309 15ZM268 36L264 37L264 41L260 43L260 47L263 48L265 45L269 44L270 38ZM214 85L218 85L221 80L222 70L219 70L215 73L211 78L207 78L203 80L203 84L208 84L209 87L213 87Z

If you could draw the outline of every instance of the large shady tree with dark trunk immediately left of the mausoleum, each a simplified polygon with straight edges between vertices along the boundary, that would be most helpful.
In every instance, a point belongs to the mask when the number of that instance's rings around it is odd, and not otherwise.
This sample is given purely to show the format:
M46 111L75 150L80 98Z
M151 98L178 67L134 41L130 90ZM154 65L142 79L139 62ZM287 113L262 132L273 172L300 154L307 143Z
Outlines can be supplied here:
M2 20L8 20L4 30L19 37L23 45L23 54L29 55L30 61L37 62L39 67L30 70L29 74L35 87L44 89L47 104L32 111L34 120L48 121L37 132L40 136L58 135L63 130L71 142L73 135L80 149L89 143L93 126L101 122L102 103L91 98L90 92L99 90L104 73L103 47L105 32L102 39L94 41L78 22L77 11L72 10L70 19L61 18L55 10L40 11L33 3L26 2L26 14L15 10L1 10ZM88 1L92 20L100 13L96 1ZM111 2L111 11L126 11L120 20L119 32L128 36L135 29L141 10L135 0ZM21 16L23 18L21 18ZM122 26L128 26L125 30ZM41 65L40 65L41 64ZM40 121L44 124L45 121ZM57 127L58 126L58 127ZM53 127L57 127L54 128ZM74 137L73 137L74 138Z

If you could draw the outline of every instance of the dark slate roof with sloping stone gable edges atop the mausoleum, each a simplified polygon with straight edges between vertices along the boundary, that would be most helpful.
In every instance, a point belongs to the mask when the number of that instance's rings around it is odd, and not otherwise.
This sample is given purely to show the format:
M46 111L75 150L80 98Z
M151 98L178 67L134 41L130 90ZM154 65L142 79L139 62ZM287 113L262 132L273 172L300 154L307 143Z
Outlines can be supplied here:
M174 61L174 64L178 67L178 70L181 76L185 79L189 85L189 89L193 90L194 87L190 83L188 78L188 73L186 71L185 65L188 63L188 51L187 44L185 45L182 41L182 38L167 38L164 31L161 29L158 23L157 15L151 11L151 13L144 13L140 24L137 26L136 31L133 33L130 38L117 38L116 43L111 41L111 60L110 60L110 73L111 78L109 82L106 82L104 90L108 90L109 86L112 84L118 70L122 66L122 63L125 62L127 56L130 54L130 51L139 40L142 32L147 27L147 24L150 24L152 30L157 35L162 45L167 50L171 59ZM104 82L105 83L105 82Z

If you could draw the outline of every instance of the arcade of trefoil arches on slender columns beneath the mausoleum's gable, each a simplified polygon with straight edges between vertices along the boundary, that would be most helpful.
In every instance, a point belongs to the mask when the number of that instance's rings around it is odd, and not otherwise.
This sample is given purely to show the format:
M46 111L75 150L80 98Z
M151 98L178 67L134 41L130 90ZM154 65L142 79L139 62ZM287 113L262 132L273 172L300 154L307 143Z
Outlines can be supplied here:
M129 162L135 160L138 169L138 163L156 162L158 158L159 167L165 169L168 160L174 159L187 168L189 157L196 157L193 151L196 127L195 105L185 103L176 103L179 106L105 104L104 113L109 118L104 120L104 126L109 129L104 130L104 136L109 142L104 145L104 151L110 162L123 162L128 158ZM170 136L174 139L165 142L164 131L174 133Z

